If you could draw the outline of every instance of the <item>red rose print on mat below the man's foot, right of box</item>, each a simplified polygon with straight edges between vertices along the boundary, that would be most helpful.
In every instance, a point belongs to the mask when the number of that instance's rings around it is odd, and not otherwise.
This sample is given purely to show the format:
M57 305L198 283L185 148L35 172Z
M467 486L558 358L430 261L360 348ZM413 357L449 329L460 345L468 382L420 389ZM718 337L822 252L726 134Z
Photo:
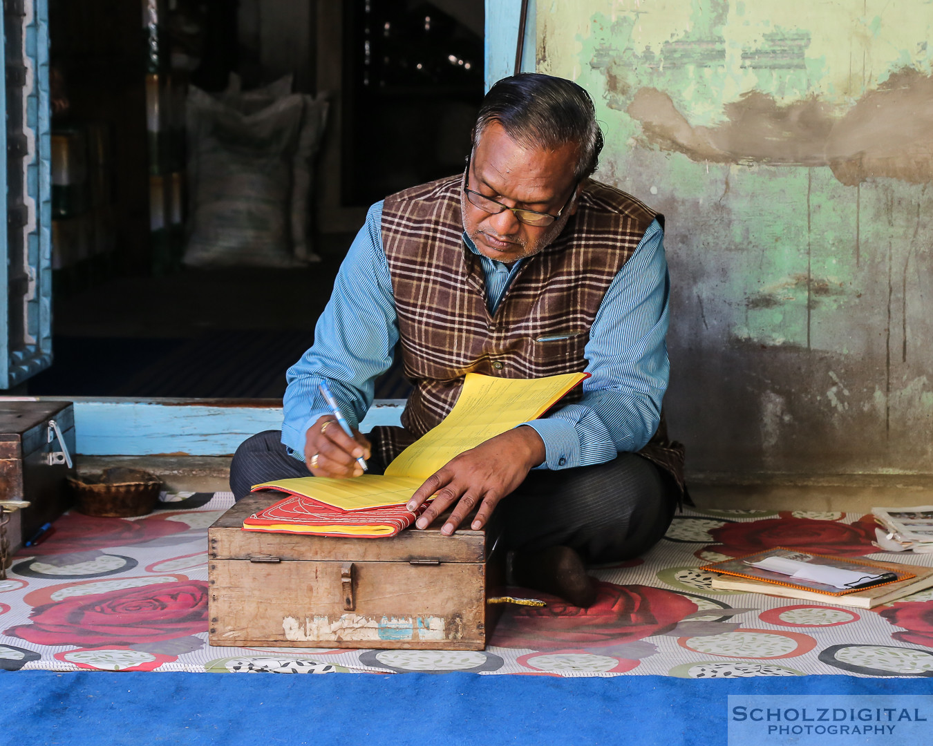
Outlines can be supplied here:
M677 622L697 611L693 601L662 588L603 582L596 587L596 602L589 609L526 591L525 595L548 605L516 607L503 615L491 643L534 650L615 646L674 629Z

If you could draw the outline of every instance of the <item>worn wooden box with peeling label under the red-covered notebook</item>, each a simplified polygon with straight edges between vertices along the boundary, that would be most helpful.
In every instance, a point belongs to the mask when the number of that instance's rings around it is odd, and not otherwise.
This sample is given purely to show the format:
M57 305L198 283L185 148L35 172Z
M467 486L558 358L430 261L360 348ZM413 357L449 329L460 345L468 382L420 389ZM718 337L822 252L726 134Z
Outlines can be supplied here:
M242 530L279 499L249 495L207 532L212 645L485 647L499 609L486 598L504 585L495 525L388 539Z

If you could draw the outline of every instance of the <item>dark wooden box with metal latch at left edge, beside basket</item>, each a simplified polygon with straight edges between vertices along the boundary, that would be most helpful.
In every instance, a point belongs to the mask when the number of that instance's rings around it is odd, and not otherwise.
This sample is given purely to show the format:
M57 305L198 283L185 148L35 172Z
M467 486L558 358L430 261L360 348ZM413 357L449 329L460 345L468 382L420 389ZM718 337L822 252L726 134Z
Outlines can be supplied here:
M74 502L65 481L75 473L67 463L74 453L75 410L71 402L0 401L0 496L30 502L19 512L22 541ZM20 537L10 534L8 538L12 552Z

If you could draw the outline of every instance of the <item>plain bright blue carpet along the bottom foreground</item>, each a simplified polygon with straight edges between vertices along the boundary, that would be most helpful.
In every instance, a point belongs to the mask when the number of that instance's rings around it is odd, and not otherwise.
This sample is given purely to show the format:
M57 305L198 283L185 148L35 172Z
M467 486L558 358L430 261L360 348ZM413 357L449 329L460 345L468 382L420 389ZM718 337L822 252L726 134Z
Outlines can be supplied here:
M718 746L730 694L930 695L933 679L18 671L0 674L0 743Z

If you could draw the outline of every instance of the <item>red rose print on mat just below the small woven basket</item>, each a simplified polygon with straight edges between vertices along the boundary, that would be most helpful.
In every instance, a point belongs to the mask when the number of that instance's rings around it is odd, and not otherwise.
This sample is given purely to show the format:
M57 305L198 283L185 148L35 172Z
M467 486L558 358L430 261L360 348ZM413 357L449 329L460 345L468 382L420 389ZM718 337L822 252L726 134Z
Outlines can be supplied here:
M92 518L69 513L55 521L55 532L39 546L21 549L21 555L69 554L111 546L128 546L188 531L175 520Z

